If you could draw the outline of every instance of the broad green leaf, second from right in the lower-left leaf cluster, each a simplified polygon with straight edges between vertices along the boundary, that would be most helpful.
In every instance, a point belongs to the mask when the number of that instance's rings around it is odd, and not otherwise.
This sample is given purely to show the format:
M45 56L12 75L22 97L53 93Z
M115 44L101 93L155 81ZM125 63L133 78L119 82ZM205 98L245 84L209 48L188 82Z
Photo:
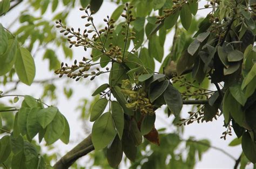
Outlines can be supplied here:
M56 116L46 127L44 139L48 145L55 143L63 134L65 129L65 119L63 115L57 111Z

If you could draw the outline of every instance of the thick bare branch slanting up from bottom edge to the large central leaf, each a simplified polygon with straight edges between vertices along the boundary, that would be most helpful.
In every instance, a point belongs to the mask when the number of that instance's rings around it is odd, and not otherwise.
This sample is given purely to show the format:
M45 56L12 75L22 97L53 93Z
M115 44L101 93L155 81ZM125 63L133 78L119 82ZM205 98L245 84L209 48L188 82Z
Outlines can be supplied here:
M68 169L77 159L85 156L94 150L91 140L91 134L75 146L71 151L65 154L57 163L53 166L56 169Z

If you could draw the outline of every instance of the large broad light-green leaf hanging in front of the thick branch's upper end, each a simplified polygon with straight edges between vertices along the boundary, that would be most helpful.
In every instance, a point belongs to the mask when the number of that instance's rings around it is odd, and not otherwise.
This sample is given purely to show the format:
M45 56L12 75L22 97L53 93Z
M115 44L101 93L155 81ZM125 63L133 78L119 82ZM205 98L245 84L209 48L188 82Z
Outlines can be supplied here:
M116 136L113 118L110 112L100 116L92 126L92 144L95 150L100 150L111 143Z

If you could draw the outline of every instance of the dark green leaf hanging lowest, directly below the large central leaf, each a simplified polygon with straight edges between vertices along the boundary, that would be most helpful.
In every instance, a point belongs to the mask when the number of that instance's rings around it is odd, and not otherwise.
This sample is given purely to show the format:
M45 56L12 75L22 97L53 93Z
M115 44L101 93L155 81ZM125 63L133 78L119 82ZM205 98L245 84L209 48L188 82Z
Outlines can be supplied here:
M117 167L122 161L123 146L122 141L116 136L111 146L107 148L107 162L111 167Z

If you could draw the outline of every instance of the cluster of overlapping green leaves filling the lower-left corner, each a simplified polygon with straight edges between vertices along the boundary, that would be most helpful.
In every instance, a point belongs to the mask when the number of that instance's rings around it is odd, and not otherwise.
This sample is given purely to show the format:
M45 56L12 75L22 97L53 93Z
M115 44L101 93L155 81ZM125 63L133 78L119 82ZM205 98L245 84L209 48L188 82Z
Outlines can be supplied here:
M48 145L55 143L58 139L68 144L70 135L68 121L57 107L45 108L44 103L39 99L28 95L21 97L24 97L24 100L19 110L15 107L0 108L1 111L18 111L15 114L12 132L2 130L10 136L6 135L0 140L1 163L11 160L12 168L21 168L21 166L22 168L45 168L44 158L32 143L32 139L38 134L39 143L44 138ZM15 97L14 102L17 101L18 97Z

